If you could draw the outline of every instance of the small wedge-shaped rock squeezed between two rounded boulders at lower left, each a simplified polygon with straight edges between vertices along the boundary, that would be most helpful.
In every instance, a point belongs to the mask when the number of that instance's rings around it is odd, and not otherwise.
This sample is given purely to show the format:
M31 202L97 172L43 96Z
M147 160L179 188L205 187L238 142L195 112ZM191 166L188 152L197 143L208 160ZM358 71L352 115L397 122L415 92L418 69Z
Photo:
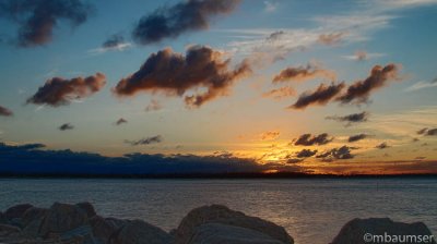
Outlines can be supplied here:
M109 239L127 223L126 220L115 218L103 218L94 216L90 219L94 237L99 243L108 243Z

